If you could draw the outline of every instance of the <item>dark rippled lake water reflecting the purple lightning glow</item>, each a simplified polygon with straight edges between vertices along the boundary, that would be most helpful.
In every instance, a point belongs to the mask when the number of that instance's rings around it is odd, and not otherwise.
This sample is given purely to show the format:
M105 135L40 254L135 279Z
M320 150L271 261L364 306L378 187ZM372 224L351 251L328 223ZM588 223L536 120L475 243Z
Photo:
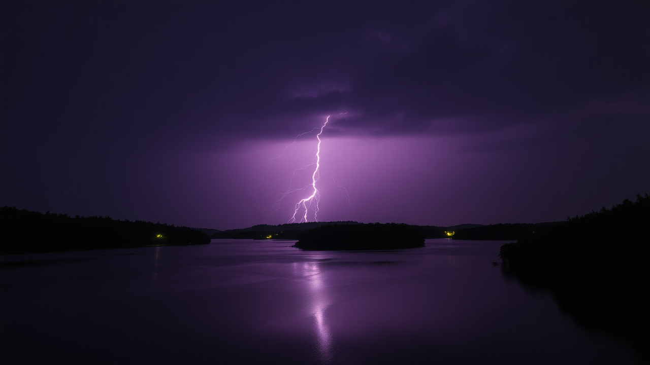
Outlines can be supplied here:
M0 256L2 364L634 364L502 275L499 241Z

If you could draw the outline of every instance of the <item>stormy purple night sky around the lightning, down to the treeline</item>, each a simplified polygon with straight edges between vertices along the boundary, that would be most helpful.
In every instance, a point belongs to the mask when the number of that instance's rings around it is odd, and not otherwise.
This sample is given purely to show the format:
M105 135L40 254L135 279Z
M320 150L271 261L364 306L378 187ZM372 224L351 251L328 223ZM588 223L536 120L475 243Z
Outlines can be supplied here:
M287 223L317 131L285 146L328 115L321 221L536 223L650 193L650 2L351 3L3 1L0 205Z

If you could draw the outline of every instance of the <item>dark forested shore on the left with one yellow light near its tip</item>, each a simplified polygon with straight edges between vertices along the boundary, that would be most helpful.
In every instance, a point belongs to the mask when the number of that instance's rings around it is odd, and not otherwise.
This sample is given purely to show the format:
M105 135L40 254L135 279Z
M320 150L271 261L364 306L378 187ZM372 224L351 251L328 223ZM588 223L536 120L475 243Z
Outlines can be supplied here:
M0 208L0 254L209 243L188 227Z

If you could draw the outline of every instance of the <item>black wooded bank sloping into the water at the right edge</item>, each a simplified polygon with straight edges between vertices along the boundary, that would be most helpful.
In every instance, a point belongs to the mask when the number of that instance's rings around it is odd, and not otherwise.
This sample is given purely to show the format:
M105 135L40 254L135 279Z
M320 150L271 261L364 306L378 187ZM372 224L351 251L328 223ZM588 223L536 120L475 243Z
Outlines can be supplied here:
M569 218L501 247L506 275L551 292L580 325L624 338L650 360L650 197Z

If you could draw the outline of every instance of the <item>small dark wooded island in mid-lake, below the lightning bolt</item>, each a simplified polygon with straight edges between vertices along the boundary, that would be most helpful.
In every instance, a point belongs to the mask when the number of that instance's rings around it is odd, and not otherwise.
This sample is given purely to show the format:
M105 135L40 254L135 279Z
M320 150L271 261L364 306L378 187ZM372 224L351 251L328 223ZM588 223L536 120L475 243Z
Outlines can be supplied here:
M294 247L314 250L402 249L424 246L424 236L405 224L322 225L300 235Z

